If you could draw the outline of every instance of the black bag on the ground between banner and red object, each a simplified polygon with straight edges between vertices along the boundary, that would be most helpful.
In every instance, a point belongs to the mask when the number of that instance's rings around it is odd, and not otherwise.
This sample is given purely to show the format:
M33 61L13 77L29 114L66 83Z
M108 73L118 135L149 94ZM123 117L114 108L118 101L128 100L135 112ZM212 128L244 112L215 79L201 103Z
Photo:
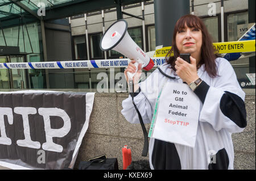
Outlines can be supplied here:
M90 158L79 163L79 170L118 170L117 158L106 158L106 155Z

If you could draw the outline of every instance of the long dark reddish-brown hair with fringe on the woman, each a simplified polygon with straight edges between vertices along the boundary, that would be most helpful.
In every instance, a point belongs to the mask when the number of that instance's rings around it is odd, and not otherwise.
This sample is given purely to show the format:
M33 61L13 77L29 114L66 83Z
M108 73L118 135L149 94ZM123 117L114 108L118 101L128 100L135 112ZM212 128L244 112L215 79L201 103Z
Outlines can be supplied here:
M177 57L180 56L179 50L176 46L176 34L183 28L185 28L185 25L187 24L187 27L192 28L195 27L202 32L202 47L201 47L201 60L199 62L199 65L197 65L197 68L199 68L201 65L205 64L205 70L209 74L210 77L216 77L217 76L217 69L216 69L216 63L215 59L217 56L217 51L213 46L212 37L210 36L207 28L205 27L203 21L195 16L195 15L184 15L182 16L174 27L174 35L172 37L172 48L166 55L167 64L171 65L171 68L175 69L175 61ZM171 54L174 54L174 56L171 56ZM169 57L170 56L170 57ZM167 58L169 57L169 58Z

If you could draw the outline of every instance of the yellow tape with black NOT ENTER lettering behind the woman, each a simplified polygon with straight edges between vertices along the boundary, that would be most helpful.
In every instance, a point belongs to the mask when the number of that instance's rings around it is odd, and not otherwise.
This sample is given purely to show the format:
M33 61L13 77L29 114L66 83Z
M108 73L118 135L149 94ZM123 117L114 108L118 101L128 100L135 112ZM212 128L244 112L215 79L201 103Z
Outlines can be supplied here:
M213 43L218 53L245 53L255 52L255 40L246 41L229 41L221 43ZM154 57L165 57L171 47L164 47L155 50ZM172 56L173 54L171 54Z

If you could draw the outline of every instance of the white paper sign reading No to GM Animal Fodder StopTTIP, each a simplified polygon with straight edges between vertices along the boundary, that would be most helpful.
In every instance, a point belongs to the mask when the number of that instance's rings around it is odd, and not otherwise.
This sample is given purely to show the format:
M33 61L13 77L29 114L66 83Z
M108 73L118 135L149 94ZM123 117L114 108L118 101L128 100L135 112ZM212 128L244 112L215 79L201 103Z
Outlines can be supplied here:
M185 83L167 81L158 100L152 138L195 146L200 99Z

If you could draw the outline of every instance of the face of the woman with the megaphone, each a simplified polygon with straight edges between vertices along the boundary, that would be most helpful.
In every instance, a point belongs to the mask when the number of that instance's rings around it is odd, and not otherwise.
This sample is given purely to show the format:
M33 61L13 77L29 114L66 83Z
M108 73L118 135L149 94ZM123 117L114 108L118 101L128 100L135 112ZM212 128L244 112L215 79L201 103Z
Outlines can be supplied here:
M176 33L176 46L180 53L201 54L202 32L192 27L181 29Z

